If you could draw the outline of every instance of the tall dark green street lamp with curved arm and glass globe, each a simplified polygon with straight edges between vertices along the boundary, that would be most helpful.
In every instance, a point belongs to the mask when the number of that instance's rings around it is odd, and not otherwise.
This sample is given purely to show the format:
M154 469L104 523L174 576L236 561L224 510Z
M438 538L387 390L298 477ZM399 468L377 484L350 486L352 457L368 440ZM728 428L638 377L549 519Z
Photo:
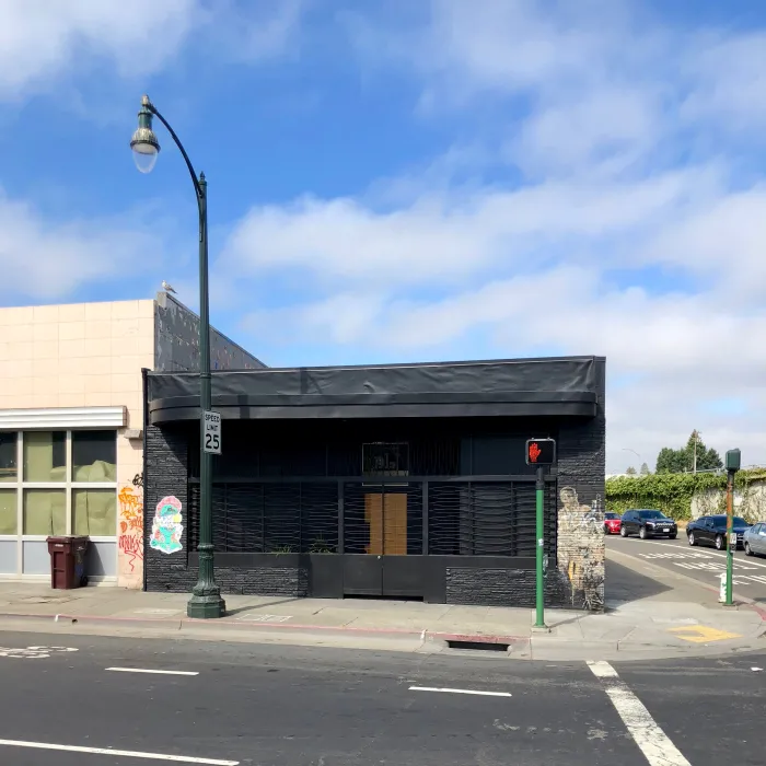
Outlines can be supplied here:
M210 394L210 306L208 297L208 184L205 173L199 177L175 131L156 111L149 96L141 98L138 113L138 128L130 139L136 166L141 173L151 172L160 153L160 142L152 130L152 118L167 128L175 144L184 155L192 175L192 183L199 207L199 573L197 584L186 605L189 617L208 619L222 617L227 605L221 597L221 589L216 584L212 547L212 463L210 453L205 451L205 413L211 408Z

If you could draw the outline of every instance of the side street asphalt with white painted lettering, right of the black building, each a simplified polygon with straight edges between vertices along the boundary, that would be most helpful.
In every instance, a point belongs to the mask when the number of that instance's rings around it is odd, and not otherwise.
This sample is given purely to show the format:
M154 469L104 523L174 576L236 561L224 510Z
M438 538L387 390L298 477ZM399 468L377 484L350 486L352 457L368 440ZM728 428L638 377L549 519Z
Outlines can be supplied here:
M727 554L712 547L692 547L682 530L676 539L620 537L606 538L607 557L611 550L629 555L641 561L692 577L706 585L718 588L720 574L726 570ZM615 559L618 561L619 559ZM607 581L608 584L608 581ZM734 554L734 591L741 595L766 603L766 557Z

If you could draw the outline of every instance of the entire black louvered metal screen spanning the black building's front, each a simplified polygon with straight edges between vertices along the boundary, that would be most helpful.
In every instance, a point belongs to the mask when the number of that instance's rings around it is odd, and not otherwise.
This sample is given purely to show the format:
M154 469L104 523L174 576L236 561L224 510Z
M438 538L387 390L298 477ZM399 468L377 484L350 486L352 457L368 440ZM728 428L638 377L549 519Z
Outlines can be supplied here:
M337 553L337 481L213 485L220 553ZM344 553L423 553L422 481L344 481ZM199 485L189 486L188 541L199 542ZM546 553L556 550L556 485L546 483ZM428 554L534 556L534 481L428 481Z

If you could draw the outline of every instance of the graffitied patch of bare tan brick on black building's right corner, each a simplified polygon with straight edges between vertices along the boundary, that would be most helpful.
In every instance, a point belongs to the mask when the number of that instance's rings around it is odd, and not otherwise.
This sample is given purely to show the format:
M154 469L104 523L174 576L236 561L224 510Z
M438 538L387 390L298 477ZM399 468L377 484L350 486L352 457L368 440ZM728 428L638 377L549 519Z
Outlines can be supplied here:
M604 606L604 511L601 498L580 504L573 487L559 492L558 565L571 588L572 605Z

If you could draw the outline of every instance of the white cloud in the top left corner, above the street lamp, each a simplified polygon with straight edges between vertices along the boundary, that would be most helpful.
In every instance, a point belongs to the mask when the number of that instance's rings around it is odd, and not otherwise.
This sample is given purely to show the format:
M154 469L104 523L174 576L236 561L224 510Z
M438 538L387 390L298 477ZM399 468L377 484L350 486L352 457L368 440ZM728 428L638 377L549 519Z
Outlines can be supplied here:
M0 100L50 91L67 73L92 71L94 60L123 79L144 78L193 39L214 44L216 61L274 57L290 43L302 7L300 0L3 0Z

